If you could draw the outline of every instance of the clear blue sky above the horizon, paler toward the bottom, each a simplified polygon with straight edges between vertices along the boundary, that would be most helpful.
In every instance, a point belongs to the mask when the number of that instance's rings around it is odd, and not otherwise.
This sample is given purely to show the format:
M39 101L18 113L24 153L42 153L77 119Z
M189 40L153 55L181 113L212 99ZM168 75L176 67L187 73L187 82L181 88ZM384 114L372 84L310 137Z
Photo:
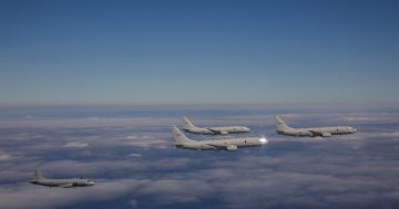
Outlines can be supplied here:
M398 104L397 1L0 2L0 105Z

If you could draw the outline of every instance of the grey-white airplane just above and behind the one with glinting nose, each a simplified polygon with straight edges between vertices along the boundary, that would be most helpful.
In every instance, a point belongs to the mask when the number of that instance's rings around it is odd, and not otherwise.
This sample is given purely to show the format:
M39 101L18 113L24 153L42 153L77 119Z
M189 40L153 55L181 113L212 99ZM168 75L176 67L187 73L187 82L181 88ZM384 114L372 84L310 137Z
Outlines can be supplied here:
M193 134L208 134L208 135L217 135L217 134L238 134L238 133L247 133L250 129L245 126L226 126L226 127L196 127L188 121L187 117L183 116L183 129L184 132L193 133Z

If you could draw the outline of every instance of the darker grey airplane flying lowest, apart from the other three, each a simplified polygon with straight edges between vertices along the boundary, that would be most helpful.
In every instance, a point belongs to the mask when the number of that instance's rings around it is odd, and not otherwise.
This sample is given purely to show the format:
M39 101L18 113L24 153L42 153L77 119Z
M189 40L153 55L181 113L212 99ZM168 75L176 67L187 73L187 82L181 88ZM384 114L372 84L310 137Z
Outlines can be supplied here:
M93 181L83 178L70 178L70 179L44 178L39 170L34 171L34 178L29 182L33 185L41 185L47 187L62 187L62 188L88 187L94 185Z

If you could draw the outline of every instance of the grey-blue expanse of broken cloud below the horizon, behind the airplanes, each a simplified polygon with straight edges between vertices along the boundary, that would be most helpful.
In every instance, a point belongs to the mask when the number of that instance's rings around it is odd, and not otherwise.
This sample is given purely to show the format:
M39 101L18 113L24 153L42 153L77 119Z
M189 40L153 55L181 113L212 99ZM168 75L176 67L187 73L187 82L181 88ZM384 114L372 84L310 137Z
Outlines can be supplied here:
M75 107L22 108L0 115L0 208L299 208L397 209L399 112L180 107L111 112ZM84 112L85 114L81 114ZM278 135L273 115L294 127L349 125L351 135ZM174 146L182 115L197 126L245 125L265 135L263 147L195 151ZM202 140L212 137L187 134ZM85 188L28 182L90 178Z

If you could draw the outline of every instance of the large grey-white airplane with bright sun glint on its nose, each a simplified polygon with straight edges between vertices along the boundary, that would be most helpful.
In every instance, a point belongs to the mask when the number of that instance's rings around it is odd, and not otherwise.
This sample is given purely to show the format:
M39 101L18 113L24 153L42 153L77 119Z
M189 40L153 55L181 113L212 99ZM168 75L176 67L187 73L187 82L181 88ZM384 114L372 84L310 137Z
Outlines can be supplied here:
M192 150L237 150L245 147L257 147L268 143L265 137L245 137L229 139L193 140L187 138L176 126L172 128L175 146Z

